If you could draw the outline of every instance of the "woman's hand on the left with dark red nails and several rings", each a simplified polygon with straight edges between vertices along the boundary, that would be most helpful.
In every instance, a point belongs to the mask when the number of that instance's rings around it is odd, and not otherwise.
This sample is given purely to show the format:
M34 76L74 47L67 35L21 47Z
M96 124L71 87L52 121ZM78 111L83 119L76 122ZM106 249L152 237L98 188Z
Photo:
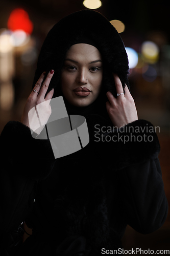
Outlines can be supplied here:
M33 89L33 90L36 90L38 93L34 92L34 91L31 92L31 94L28 97L27 102L25 104L25 108L23 109L21 123L30 127L33 131L36 130L37 113L35 112L35 110L37 111L37 108L38 108L39 120L41 120L41 125L46 124L48 118L51 115L50 100L53 97L54 89L52 89L50 92L48 92L46 97L45 97L45 93L48 89L48 86L53 77L53 74L54 74L54 70L51 70L50 72L48 72L44 81L43 81L43 79L45 77L45 72L41 74L40 78L38 79L38 81L35 84L35 87ZM42 102L44 102L44 103L40 104ZM40 105L37 106L38 104L40 104ZM34 107L36 107L36 108L34 108ZM29 111L32 108L34 108L33 111L31 113L29 113ZM29 113L29 117L28 117L28 113Z

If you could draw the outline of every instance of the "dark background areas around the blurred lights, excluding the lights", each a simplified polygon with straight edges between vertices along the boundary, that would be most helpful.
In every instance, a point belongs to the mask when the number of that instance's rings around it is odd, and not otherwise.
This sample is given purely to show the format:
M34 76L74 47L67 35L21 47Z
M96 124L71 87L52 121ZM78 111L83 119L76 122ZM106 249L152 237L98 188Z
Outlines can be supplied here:
M8 18L15 8L26 10L34 25L31 38L36 57L31 65L23 65L21 55L24 49L20 47L14 50L14 72L10 77L14 91L13 104L9 108L4 108L2 104L0 105L0 131L3 130L8 121L20 120L23 106L31 92L37 57L47 32L62 17L72 12L86 9L82 0L1 0L0 29L8 29ZM167 0L159 2L149 0L127 2L103 0L102 7L96 9L108 20L118 19L125 24L125 31L120 33L125 47L131 47L139 54L141 53L141 44L145 40L154 41L159 47L158 61L150 64L157 71L157 77L153 81L145 80L143 78L143 69L135 68L130 70L129 81L131 93L136 103L138 118L149 120L154 126L160 127L160 132L157 133L161 145L159 160L168 203L170 202L170 167L168 162L170 157L169 10L169 2ZM76 24L70 24L69 26L76 26ZM91 26L98 26L98 24L94 20ZM3 65L3 63L1 62L0 65ZM148 63L145 63L145 65L147 66ZM0 74L1 87L3 87L3 81ZM8 92L4 97L8 97ZM170 215L168 214L164 225L152 234L142 235L128 226L123 238L123 245L125 249L170 250L169 241Z

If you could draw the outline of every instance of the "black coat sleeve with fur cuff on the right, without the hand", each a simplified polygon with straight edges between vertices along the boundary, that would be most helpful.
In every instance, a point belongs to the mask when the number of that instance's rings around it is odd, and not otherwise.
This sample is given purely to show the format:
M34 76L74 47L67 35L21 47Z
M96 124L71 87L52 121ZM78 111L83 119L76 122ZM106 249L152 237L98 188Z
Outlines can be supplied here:
M140 233L150 233L163 225L168 211L159 140L146 120L136 120L120 130L110 133L114 142L107 151L108 159L114 157L108 162L110 172L114 168L119 180L119 207L127 224ZM107 150L108 143L104 144Z

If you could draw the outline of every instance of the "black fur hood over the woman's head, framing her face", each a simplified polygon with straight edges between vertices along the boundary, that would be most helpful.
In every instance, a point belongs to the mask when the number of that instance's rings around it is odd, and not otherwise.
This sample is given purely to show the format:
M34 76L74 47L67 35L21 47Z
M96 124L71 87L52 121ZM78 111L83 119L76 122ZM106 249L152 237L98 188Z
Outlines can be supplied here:
M122 38L111 23L99 12L82 10L62 18L48 32L42 45L35 72L33 87L43 71L55 70L48 91L54 88L54 96L61 95L60 73L65 54L82 36L91 38L103 57L103 87L116 97L112 73L116 73L129 87L128 57ZM47 91L47 92L48 92Z

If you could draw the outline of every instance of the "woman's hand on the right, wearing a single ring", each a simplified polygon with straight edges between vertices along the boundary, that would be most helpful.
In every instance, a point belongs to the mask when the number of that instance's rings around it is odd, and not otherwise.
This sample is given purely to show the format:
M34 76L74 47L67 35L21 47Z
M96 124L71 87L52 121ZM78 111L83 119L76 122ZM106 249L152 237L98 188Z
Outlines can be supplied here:
M106 102L106 109L113 125L119 128L137 120L138 117L134 99L132 98L127 85L123 90L122 82L119 77L116 74L113 74L113 76L116 92L120 94L125 90L125 94L115 98L111 92L107 92L106 95L109 101Z

